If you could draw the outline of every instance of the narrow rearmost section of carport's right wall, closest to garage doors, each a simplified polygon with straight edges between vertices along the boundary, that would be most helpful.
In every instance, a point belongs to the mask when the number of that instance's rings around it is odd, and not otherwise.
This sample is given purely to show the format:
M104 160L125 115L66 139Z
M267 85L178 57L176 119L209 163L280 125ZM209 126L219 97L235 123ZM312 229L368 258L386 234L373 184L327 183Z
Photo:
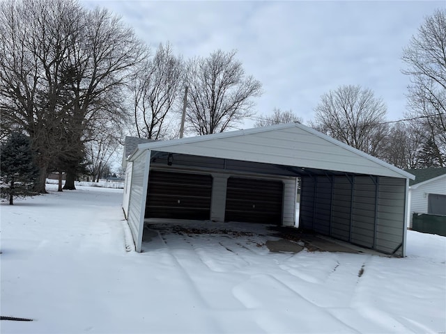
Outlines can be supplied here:
M301 179L299 228L313 229L314 222L314 195L316 190L316 177L304 176Z

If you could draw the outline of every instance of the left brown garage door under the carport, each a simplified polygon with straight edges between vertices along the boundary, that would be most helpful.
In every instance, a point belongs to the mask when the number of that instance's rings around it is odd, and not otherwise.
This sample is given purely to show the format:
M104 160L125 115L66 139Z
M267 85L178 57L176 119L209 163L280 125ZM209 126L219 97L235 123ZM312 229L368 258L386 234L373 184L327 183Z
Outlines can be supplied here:
M148 175L146 218L210 218L212 177L151 170Z

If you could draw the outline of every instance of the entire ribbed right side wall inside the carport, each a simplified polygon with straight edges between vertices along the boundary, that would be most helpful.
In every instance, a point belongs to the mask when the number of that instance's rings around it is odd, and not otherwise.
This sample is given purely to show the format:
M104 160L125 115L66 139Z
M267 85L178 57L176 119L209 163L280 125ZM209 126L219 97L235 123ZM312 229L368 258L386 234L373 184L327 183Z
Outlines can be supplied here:
M405 179L392 177L302 177L300 226L403 255L405 189Z

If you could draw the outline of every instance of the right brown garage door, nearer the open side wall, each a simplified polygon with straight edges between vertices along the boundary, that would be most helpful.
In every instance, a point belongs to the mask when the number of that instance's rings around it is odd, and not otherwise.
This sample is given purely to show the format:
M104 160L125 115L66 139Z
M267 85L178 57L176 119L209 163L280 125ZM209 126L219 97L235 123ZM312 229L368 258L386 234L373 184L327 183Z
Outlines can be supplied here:
M280 224L282 182L229 177L225 221Z

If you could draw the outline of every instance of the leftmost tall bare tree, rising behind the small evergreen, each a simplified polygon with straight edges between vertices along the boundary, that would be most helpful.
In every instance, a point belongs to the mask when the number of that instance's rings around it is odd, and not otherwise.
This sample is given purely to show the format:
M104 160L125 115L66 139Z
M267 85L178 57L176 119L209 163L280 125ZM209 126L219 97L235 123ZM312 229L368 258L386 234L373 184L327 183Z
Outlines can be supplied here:
M47 167L61 152L59 69L79 10L73 1L0 3L0 112L2 123L24 129L37 153L37 191L45 191ZM51 13L51 15L44 15ZM66 24L57 24L64 18Z

